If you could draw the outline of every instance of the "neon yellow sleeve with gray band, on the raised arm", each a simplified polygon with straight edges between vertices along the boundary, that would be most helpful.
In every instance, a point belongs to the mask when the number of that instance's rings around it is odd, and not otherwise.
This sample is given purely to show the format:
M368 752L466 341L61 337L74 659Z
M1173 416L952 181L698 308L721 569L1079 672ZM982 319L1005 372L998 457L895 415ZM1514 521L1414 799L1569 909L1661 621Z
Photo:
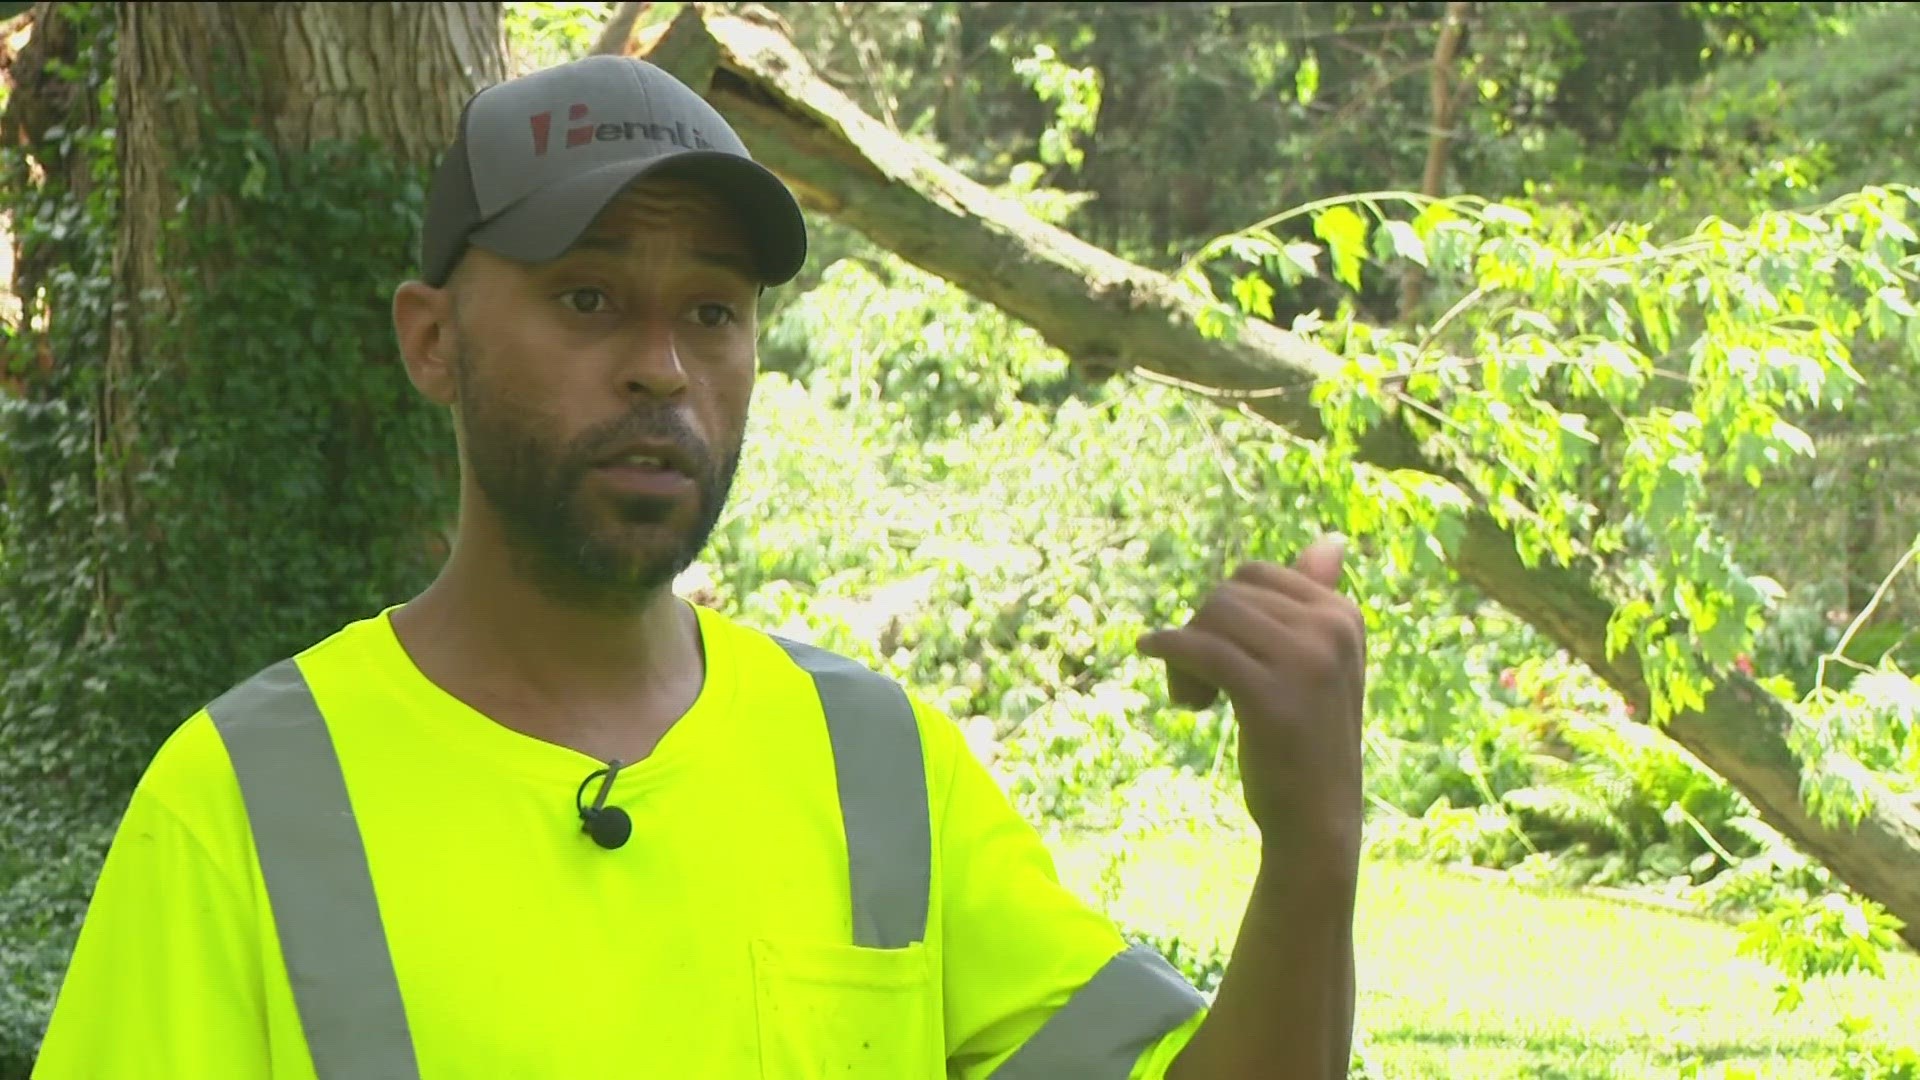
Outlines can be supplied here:
M916 707L929 765L947 780L933 796L948 1076L1165 1076L1206 999L1060 882L958 726Z

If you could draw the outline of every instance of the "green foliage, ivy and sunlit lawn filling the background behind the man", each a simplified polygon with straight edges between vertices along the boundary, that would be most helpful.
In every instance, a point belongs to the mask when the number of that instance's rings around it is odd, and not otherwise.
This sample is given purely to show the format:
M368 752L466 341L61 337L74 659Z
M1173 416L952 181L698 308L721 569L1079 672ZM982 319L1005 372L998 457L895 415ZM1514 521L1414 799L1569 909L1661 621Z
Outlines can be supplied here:
M177 319L205 363L146 386L163 423L219 434L142 473L165 544L98 502L113 38L65 8L96 35L67 73L100 104L67 135L84 165L35 179L10 148L0 188L52 348L83 357L0 390L0 1076L31 1057L157 740L248 657L399 598L428 571L407 538L445 505L436 421L397 365L357 363L386 352L417 181L242 136L194 163L246 215L192 258L255 273ZM520 63L578 54L611 8L509 4L509 42ZM1803 761L1920 794L1920 194L1889 186L1920 146L1899 48L1920 10L1463 6L1442 183L1421 190L1446 4L772 8L872 115L1175 273L1215 300L1213 332L1265 317L1344 369L1306 444L1233 402L1094 379L818 217L808 273L768 300L749 452L689 596L945 707L1068 878L1210 986L1250 867L1231 715L1171 709L1133 642L1233 565L1342 530L1371 632L1359 1070L1920 1078L1895 920L1645 723L1749 673L1791 703ZM10 334L31 371L42 336ZM1619 605L1653 717L1448 569L1455 488L1356 465L1386 409ZM348 452L382 465L336 471ZM269 455L296 479L244 471ZM234 521L194 528L207 507ZM276 548L219 548L242 536ZM271 580L288 565L298 588ZM136 601L102 623L106 578ZM202 615L259 596L271 619ZM1814 805L1853 809L1841 773L1811 776Z

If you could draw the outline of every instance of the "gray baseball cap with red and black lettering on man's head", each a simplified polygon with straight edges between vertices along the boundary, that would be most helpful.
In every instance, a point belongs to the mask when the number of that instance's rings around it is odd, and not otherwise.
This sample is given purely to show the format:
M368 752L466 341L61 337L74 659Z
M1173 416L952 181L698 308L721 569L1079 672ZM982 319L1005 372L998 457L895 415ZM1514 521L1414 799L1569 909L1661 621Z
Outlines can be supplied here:
M434 173L420 271L442 286L467 244L524 263L566 252L641 177L708 184L739 213L764 284L806 261L787 184L691 86L645 60L588 56L474 94Z

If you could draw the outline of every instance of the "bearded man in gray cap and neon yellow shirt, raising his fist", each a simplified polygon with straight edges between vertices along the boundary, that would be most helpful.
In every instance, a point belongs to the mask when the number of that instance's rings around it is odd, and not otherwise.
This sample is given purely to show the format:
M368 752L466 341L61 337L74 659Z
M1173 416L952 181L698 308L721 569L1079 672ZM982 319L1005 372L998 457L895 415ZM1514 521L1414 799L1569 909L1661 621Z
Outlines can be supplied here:
M394 298L455 419L453 553L167 742L35 1076L1344 1074L1338 548L1140 642L1179 701L1231 698L1265 838L1212 1007L1060 886L947 717L672 594L728 498L758 292L804 242L647 63L468 102Z

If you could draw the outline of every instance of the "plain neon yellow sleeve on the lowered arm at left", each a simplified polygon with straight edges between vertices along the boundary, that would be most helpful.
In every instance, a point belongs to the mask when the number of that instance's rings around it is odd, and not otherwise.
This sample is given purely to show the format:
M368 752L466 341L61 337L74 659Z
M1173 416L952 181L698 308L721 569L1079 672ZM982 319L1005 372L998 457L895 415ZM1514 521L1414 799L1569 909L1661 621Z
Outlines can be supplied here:
M154 788L108 847L33 1080L271 1076L250 905Z

